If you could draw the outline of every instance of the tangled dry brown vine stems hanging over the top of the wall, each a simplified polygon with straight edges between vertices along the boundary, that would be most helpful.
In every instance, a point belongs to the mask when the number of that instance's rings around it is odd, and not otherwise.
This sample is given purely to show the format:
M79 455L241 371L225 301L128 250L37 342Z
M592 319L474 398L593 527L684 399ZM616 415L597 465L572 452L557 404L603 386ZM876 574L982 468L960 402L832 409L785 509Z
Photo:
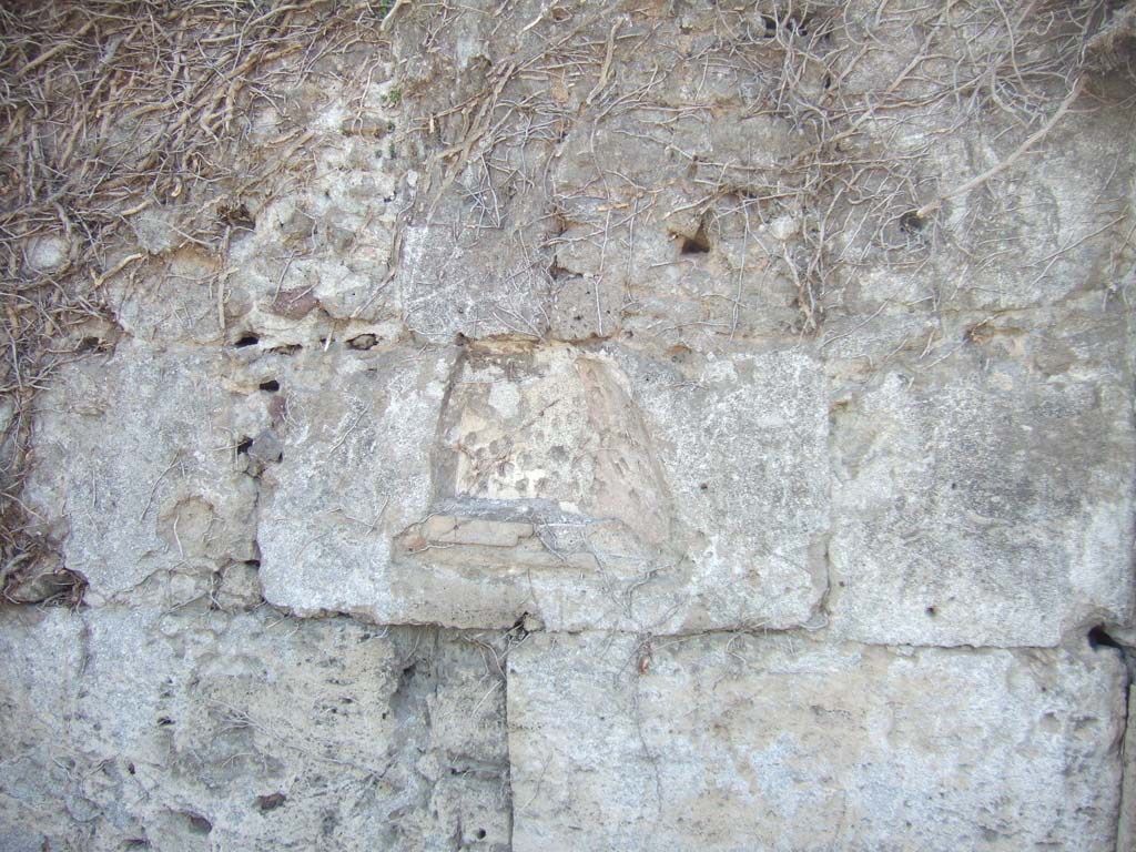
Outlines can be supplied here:
M57 0L0 10L6 588L43 554L51 532L19 502L31 400L53 368L101 345L84 328L114 319L106 283L154 260L132 223L161 207L183 244L217 257L224 328L228 240L250 226L252 199L310 170L304 151L319 130L291 93L318 80L329 56L358 53L365 81L401 37L434 64L400 69L408 118L400 144L425 175L406 222L428 225L457 209L475 232L503 235L521 272L494 310L536 336L551 334L549 306L577 276L566 257L594 251L595 277L626 267L629 279L650 228L669 231L692 253L711 241L737 247L729 287L693 295L694 318L650 328L679 342L692 325L728 340L746 333L759 244L761 272L795 293L787 331L799 336L821 331L840 308L836 285L869 265L913 274L957 267L961 257L971 272L988 269L1006 244L985 239L976 223L1000 203L999 182L1069 116L1131 98L1133 10L1093 0L718 3L711 37L676 48L673 68L638 56L663 22L682 17L680 5L557 0L517 32L502 31L501 53L477 58L484 67L458 80L449 31L475 16L496 35L517 6ZM673 85L676 69L694 69L693 89ZM252 143L252 107L264 103L278 120L270 140ZM687 144L688 123L712 124L718 105L774 122L791 144L771 137L768 156L750 159ZM995 159L984 154L977 176L947 183L944 151L975 124ZM604 161L604 133L658 153L696 192L668 194L652 182L659 169ZM557 174L573 139L591 149L594 170L583 183ZM954 211L962 219L947 224L944 208L967 195L972 202ZM1130 228L1117 217L1093 224L1084 240L1128 229L1127 240ZM395 257L401 241L396 234ZM1031 262L1045 275L1055 259L1046 249ZM386 296L396 273L392 262L374 298ZM601 286L593 291L604 336L618 317L601 304ZM625 286L616 314L638 298ZM74 583L60 587L61 599L77 594Z

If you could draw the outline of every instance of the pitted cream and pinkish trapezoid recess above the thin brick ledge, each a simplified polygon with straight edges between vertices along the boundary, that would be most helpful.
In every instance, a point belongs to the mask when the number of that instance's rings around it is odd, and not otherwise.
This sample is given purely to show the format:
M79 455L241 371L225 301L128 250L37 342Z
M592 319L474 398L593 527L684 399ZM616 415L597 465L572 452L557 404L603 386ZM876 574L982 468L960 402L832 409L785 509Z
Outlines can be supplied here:
M670 494L623 371L569 345L470 346L440 428L440 498L544 501L670 533Z

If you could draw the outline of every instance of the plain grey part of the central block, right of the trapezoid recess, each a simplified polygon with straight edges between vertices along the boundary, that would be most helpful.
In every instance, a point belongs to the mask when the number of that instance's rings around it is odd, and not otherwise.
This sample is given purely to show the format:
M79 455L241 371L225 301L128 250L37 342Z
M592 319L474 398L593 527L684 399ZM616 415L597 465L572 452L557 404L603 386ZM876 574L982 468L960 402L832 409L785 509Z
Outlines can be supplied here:
M797 348L623 357L690 532L682 629L807 624L826 591L828 419ZM792 389L792 391L790 391ZM673 604L674 605L674 604Z

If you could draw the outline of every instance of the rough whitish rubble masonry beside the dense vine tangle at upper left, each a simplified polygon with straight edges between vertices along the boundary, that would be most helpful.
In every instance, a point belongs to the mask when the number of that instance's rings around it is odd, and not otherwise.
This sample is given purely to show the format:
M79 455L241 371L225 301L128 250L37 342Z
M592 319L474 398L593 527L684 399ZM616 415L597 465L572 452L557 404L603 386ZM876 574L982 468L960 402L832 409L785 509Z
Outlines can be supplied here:
M296 91L283 83L279 100L265 99L247 116L247 153L259 159L257 149L272 147L286 160L289 150L293 159L302 151L310 172L302 184L294 173L276 174L210 204L211 220L200 224L223 233L224 252L178 228L184 211L176 206L130 218L150 257L141 275L116 276L107 291L136 339L217 344L256 333L265 348L315 345L332 334L385 334L396 320L387 273L407 203L404 160L379 141L401 118L389 95L392 68L370 57L360 91L357 56L336 52L329 61L336 70L318 84L308 78Z

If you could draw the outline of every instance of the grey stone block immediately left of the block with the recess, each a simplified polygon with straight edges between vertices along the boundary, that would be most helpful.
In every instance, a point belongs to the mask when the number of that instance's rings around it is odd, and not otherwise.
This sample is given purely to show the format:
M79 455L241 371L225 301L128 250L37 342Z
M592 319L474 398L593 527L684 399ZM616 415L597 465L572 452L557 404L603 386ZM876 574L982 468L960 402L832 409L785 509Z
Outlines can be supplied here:
M120 343L62 368L36 402L25 500L62 538L87 602L147 593L256 557L256 484L237 452L248 412L225 359ZM173 604L179 600L166 600Z

